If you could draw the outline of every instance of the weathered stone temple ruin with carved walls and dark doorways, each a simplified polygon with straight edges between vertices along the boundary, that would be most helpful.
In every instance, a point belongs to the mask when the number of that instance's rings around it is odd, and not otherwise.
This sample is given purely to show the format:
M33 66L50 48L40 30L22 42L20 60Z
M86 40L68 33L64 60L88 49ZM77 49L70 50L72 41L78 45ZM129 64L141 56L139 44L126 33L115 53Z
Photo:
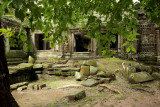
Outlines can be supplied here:
M148 16L143 11L138 11L138 41L133 42L136 53L126 53L126 47L122 44L125 39L122 35L116 35L116 43L111 46L111 49L117 53L116 56L124 59L138 60L154 65L160 64L160 27L148 20ZM16 26L18 33L20 22L3 17L2 26L4 28ZM6 38L6 56L10 70L11 84L31 81L36 78L43 77L42 74L74 76L77 75L77 80L84 78L78 77L78 72L82 69L92 69L94 66L79 64L77 60L94 59L103 57L98 53L96 39L87 37L87 31L79 30L79 28L70 28L71 35L68 35L68 40L63 44L55 44L54 48L50 47L48 41L42 40L45 38L44 33L38 29L31 32L28 27L23 29L27 31L27 40L31 42L32 51L24 50L24 46L18 44L18 47L11 47L9 38ZM102 34L105 34L106 28L102 27ZM15 33L15 34L17 34ZM17 43L21 43L20 39L16 39ZM28 61L28 57L30 57ZM71 58L74 61L70 62ZM29 62L29 63L28 63ZM72 64L71 64L72 63ZM96 68L95 68L96 69ZM34 71L34 73L32 72ZM103 72L101 72L103 74ZM99 74L99 75L101 75ZM89 75L87 75L89 76ZM113 76L113 75L110 75ZM92 77L94 78L94 76ZM114 76L112 77L114 78ZM109 80L105 80L109 81Z

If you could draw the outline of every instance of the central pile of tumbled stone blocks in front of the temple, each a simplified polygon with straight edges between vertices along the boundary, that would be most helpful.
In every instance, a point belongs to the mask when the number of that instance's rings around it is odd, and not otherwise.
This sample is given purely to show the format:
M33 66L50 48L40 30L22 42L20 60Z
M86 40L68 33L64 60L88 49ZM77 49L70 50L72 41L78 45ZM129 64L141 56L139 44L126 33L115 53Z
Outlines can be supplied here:
M111 80L115 80L116 76L114 72L99 70L95 60L88 60L83 62L80 72L75 73L75 78L77 81L85 80L82 83L83 86L92 87L109 83Z

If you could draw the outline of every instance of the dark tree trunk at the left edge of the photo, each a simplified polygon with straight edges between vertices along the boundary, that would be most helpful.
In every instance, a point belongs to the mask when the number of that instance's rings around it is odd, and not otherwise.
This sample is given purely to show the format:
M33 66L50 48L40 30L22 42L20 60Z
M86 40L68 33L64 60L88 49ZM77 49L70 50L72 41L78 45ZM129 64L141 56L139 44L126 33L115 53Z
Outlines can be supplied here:
M3 35L0 36L0 107L18 107L18 104L15 102L10 92L9 71L5 56Z

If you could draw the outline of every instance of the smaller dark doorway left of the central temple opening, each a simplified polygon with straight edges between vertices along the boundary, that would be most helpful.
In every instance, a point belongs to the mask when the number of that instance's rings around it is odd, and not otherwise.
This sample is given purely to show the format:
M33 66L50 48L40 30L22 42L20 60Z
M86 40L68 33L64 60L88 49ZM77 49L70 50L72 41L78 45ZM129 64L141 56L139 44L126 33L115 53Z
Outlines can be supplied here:
M35 47L37 50L49 50L49 42L43 40L45 38L44 34L35 34Z

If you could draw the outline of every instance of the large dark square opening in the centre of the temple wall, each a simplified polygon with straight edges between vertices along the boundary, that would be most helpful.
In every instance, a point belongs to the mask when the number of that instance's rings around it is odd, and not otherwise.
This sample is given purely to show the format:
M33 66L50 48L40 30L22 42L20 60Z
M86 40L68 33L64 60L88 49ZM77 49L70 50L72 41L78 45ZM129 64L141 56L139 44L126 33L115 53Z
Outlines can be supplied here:
M75 51L76 52L88 52L91 51L91 39L84 35L75 35Z

